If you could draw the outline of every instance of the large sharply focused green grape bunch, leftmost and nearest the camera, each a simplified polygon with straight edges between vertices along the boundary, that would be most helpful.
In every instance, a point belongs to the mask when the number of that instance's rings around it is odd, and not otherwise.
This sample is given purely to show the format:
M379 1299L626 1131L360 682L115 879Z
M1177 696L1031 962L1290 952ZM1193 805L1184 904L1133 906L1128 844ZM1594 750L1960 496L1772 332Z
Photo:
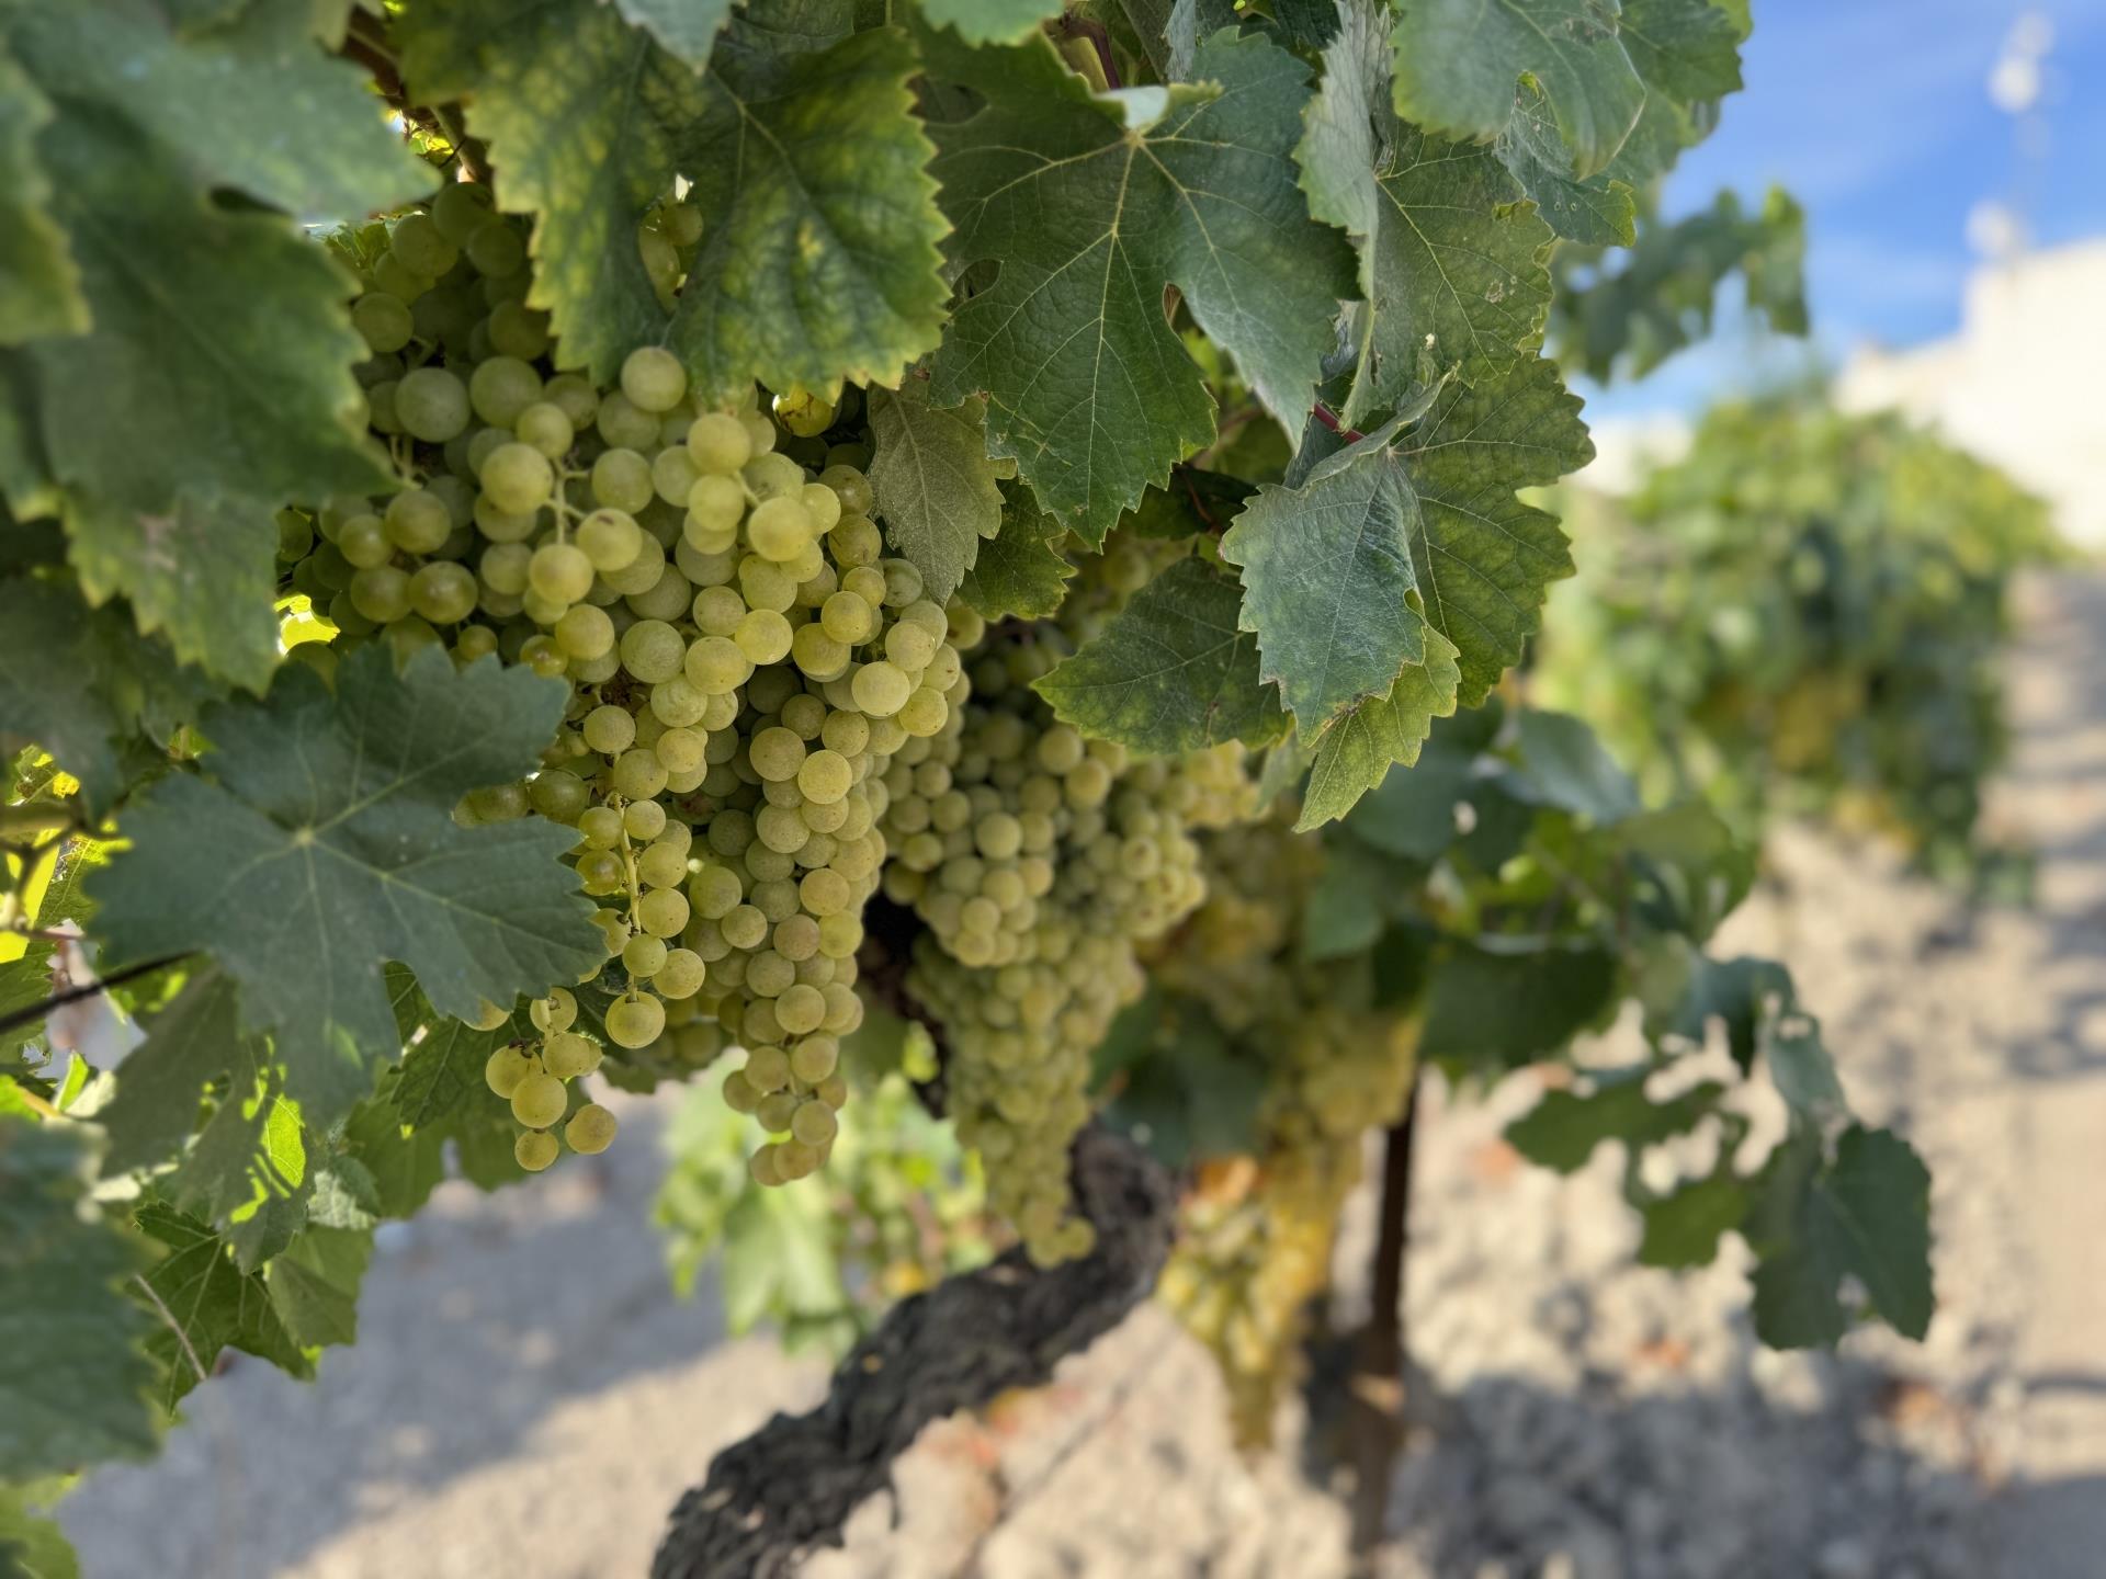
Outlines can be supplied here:
M695 236L699 217L661 206L640 240L653 278L676 284ZM404 486L289 518L289 587L339 644L444 642L461 663L569 680L541 771L457 817L577 830L609 1042L672 1067L746 1046L724 1099L775 1137L754 1177L800 1179L847 1095L838 1038L863 1015L889 764L969 688L950 615L885 556L868 448L819 438L853 419L855 392L790 389L771 417L750 389L697 400L659 347L611 387L556 371L522 232L484 187L446 185L356 240L360 379ZM333 646L295 657L329 669ZM548 1150L531 1139L539 1080L562 1078L545 1046L524 1057L541 1067L512 1093L522 1160Z

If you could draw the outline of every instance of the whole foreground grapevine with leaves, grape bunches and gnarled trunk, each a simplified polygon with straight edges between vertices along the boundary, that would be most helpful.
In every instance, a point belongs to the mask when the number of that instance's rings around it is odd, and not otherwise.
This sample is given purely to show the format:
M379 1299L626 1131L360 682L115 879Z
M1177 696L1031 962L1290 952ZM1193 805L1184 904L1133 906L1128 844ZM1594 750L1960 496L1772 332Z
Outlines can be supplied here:
M687 1265L954 1276L746 1295L861 1350L668 1575L794 1571L1165 1261L1259 1438L1365 1131L1622 1002L1516 1145L1704 1133L1662 1265L1921 1335L1921 1164L1704 954L1744 844L1512 705L1561 362L1801 314L1788 200L1657 219L1746 6L1632 11L0 8L0 1568L223 1352L326 1364L381 1223L676 1082ZM1651 1086L1708 1038L1752 1171Z

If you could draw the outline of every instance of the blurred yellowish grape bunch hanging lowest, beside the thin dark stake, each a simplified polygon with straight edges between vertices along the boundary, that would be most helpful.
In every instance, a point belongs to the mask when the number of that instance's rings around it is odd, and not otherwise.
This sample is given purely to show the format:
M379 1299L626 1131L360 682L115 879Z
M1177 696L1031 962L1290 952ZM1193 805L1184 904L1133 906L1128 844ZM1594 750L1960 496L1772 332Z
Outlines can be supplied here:
M1403 1110L1417 1044L1415 1019L1371 1006L1360 962L1299 958L1289 920L1323 874L1323 846L1289 821L1209 840L1207 901L1150 958L1165 990L1200 1000L1268 1061L1257 1145L1203 1168L1158 1282L1215 1354L1247 1444L1270 1438L1297 1377L1363 1139Z

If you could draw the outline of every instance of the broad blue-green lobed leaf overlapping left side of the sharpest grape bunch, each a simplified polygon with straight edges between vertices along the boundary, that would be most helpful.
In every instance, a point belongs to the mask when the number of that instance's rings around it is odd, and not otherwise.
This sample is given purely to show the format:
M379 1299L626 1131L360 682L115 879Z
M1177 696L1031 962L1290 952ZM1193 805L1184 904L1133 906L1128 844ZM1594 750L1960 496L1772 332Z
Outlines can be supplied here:
M112 964L211 950L244 1030L272 1032L286 1093L329 1128L400 1046L381 966L470 1017L604 958L558 863L575 836L522 819L457 827L468 790L535 768L564 686L495 661L383 646L331 693L291 667L261 703L206 716L211 777L171 777L128 813L133 848L91 895Z

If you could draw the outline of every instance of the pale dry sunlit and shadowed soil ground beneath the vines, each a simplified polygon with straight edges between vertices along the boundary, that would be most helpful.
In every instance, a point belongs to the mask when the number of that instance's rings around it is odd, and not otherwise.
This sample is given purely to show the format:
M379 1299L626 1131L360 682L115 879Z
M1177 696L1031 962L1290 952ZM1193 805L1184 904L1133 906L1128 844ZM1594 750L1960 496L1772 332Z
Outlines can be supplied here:
M1996 817L2034 914L1973 924L1876 851L1777 840L1782 952L1868 1116L1938 1177L1925 1345L1771 1356L1744 1267L1630 1265L1617 1158L1514 1164L1508 1110L1432 1103L1409 1320L1424 1425L1392 1579L2077 1579L2106 1573L2106 579L2030 587ZM655 1110L600 1168L449 1187L369 1278L314 1387L259 1364L154 1465L65 1505L88 1579L642 1573L712 1451L819 1387L665 1293ZM1365 1259L1363 1259L1365 1261ZM813 1579L1329 1579L1337 1505L1240 1461L1154 1310L994 1421L933 1430Z

